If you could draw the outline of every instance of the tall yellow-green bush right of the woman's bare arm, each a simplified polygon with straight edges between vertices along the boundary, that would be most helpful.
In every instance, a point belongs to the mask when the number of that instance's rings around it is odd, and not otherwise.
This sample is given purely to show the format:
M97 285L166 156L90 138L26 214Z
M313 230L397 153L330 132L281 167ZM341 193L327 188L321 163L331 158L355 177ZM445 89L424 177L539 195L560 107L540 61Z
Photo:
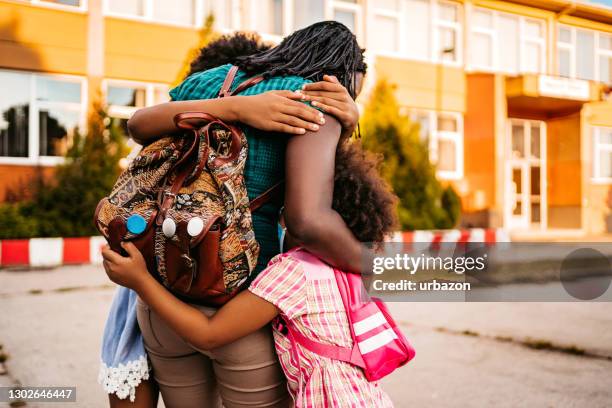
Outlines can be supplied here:
M452 187L443 188L429 161L418 124L400 113L393 87L379 81L362 116L364 147L382 154L381 173L400 199L398 215L404 230L452 228L461 203Z

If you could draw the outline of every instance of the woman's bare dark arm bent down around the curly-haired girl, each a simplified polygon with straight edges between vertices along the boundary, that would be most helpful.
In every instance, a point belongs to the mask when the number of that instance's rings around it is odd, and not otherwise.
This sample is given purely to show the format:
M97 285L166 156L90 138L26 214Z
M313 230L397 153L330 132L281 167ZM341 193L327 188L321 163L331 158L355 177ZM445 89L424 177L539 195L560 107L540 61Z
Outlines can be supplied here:
M285 224L302 246L339 269L360 273L366 248L332 209L334 164L340 123L326 115L325 125L308 137L292 137L285 156Z

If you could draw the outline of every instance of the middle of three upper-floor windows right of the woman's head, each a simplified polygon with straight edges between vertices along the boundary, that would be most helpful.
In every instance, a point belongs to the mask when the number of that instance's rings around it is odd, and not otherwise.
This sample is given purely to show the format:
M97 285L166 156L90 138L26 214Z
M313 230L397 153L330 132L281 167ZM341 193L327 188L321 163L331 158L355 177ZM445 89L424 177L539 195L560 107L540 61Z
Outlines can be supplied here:
M541 73L546 71L544 21L475 8L469 42L472 69Z

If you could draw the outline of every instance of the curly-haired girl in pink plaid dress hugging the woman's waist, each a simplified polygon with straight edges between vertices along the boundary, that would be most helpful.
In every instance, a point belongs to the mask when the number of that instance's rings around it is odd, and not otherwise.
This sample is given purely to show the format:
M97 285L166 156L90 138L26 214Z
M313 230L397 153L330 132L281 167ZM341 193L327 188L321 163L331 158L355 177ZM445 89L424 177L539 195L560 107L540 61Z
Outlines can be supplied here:
M376 167L377 160L362 150L359 142L345 141L336 151L333 208L355 237L375 244L395 227L397 202ZM291 241L288 234L287 247L293 246ZM174 331L196 349L211 350L256 331L281 314L296 330L317 342L352 346L333 269L301 247L273 258L248 290L211 317L181 302L159 284L147 272L134 245L125 243L124 248L128 257L109 248L103 250L107 274L114 282L138 292L156 312L152 316L158 316L159 321L151 322L151 327L157 335ZM296 346L301 357L296 362L291 358L291 342L276 328L274 340L289 392L294 400L301 396L301 406L392 406L387 394L377 383L368 382L358 367L301 346Z

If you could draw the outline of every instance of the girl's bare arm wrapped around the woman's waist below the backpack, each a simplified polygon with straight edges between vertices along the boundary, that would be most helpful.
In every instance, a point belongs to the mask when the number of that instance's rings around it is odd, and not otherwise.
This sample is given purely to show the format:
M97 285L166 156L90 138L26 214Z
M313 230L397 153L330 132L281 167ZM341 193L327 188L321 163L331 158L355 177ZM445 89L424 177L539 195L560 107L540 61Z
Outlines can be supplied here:
M278 314L272 303L245 290L209 318L157 282L147 271L145 260L134 244L125 242L122 246L127 257L108 245L102 249L108 277L135 290L172 330L198 349L210 350L231 343L265 326Z

